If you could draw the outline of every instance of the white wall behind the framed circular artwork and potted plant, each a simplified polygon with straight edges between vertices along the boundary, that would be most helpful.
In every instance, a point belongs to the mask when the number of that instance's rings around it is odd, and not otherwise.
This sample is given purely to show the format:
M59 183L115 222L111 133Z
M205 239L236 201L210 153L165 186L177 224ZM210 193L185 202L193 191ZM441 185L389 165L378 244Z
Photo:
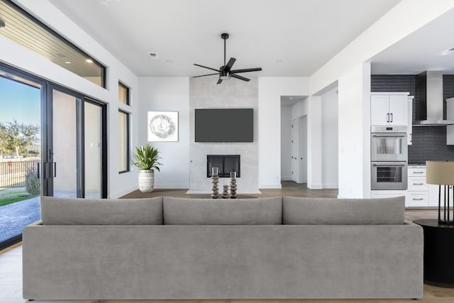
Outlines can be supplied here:
M138 145L148 140L148 111L178 111L178 142L150 142L162 158L155 188L189 188L189 77L140 77L138 85Z

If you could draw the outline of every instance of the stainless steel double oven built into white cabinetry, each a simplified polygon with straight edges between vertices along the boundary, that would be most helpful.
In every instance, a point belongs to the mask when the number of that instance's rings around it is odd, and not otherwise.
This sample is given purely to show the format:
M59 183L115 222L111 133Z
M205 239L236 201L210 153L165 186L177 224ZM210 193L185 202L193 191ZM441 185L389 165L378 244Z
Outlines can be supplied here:
M406 126L371 127L371 189L406 189Z

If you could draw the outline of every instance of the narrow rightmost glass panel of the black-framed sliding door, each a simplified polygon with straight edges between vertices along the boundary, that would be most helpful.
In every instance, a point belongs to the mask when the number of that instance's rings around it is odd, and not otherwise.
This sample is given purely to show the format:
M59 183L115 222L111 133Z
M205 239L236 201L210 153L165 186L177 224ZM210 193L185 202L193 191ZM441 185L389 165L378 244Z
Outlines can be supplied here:
M102 107L84 101L85 198L102 198Z

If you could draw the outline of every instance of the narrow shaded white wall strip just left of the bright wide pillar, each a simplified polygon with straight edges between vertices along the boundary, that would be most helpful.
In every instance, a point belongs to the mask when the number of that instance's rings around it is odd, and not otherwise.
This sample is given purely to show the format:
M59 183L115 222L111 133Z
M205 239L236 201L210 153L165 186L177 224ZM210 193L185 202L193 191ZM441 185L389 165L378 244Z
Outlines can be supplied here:
M321 96L321 114L322 187L338 188L337 87Z

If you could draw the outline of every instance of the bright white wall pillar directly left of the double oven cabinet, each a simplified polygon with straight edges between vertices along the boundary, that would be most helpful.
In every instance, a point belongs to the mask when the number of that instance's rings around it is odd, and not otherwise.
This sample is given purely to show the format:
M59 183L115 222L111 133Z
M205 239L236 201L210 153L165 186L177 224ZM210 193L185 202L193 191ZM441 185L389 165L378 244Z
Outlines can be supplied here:
M370 63L338 81L338 196L370 197Z

